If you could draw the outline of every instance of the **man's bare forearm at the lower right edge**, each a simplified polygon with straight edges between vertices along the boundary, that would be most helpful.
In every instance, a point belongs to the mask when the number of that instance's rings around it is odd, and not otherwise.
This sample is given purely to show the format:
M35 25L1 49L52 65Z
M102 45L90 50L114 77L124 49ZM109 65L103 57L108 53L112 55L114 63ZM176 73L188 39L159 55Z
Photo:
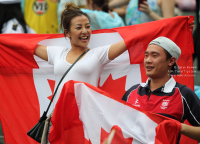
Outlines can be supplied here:
M200 127L190 126L182 123L180 133L200 142Z

